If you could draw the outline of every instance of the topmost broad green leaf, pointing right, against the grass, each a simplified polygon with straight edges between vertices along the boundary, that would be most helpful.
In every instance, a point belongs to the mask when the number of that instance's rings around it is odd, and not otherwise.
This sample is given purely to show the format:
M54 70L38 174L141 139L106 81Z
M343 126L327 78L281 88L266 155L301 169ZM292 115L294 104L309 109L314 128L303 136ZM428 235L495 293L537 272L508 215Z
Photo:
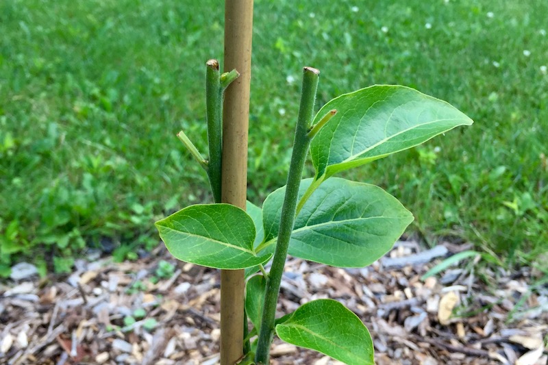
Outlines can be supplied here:
M338 112L310 144L316 177L333 175L421 144L473 121L445 101L405 86L375 85L336 97L314 122Z

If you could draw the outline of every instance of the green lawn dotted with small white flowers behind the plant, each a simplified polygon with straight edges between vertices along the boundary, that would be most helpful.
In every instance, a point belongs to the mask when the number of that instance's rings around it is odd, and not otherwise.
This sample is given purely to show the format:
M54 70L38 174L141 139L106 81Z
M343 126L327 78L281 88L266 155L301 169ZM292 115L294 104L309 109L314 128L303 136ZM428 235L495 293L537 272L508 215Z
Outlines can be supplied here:
M223 8L200 4L0 3L4 266L29 247L58 269L85 245L135 255L157 242L155 219L210 199L175 138L184 129L206 151L204 64L222 56ZM321 69L318 108L403 84L475 124L346 176L394 194L430 243L534 260L548 249L544 14L544 0L256 0L249 198L285 184L302 66Z

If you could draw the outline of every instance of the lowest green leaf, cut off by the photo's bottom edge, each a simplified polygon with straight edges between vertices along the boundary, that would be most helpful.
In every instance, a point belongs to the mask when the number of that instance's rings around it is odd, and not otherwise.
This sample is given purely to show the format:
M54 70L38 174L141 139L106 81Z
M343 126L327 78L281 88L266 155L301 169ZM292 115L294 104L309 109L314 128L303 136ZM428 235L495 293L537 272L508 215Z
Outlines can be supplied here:
M313 349L349 365L373 365L373 340L360 318L332 299L299 307L276 326L279 338Z

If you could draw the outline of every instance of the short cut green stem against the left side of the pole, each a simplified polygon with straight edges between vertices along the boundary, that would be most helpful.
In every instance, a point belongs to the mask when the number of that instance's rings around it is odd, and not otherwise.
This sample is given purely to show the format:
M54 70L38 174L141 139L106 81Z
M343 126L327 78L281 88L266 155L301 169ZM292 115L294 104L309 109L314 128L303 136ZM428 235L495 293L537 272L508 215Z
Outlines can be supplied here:
M223 158L223 88L219 61L206 63L206 119L210 149L208 177L215 203L221 203L221 160Z

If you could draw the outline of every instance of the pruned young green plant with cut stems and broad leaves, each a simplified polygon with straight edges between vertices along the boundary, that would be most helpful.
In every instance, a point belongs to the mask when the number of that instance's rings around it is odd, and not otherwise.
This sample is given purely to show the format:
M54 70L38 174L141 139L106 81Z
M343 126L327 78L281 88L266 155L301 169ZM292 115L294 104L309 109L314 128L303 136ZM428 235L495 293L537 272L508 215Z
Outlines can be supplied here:
M208 171L216 202L222 92L227 77L234 75L219 75L218 63L208 62L210 160L183 132L178 135ZM334 175L473 123L445 101L387 85L340 95L314 116L318 80L319 71L304 68L287 184L271 192L262 209L249 202L247 212L224 203L191 205L156 223L177 259L211 268L245 268L245 312L253 329L245 338L241 364L268 364L274 333L347 364L373 364L369 331L337 301L310 301L275 318L286 256L337 267L362 267L378 260L413 221L412 214L381 188ZM316 173L301 179L308 151Z

